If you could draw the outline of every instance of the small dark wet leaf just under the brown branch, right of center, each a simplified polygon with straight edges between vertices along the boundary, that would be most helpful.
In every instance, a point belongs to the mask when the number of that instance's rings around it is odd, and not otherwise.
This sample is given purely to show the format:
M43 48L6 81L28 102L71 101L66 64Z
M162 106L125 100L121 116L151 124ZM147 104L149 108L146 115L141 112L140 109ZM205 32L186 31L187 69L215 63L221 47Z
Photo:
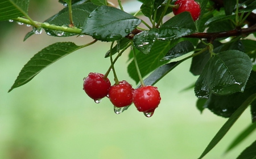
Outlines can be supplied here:
M176 46L174 46L174 48L169 50L162 60L170 60L173 58L181 57L182 55L185 55L194 49L195 48L191 42L181 41Z

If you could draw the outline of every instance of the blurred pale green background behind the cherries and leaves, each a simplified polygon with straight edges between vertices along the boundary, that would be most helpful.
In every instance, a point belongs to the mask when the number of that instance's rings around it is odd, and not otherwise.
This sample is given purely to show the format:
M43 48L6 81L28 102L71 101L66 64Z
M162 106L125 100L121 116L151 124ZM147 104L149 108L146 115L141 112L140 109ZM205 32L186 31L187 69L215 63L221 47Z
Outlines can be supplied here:
M28 14L43 22L61 8L57 0L31 0ZM22 67L46 46L57 41L77 45L92 41L88 36L61 38L43 32L23 42L31 29L15 22L0 23L0 158L198 158L227 120L209 110L200 114L193 89L181 91L197 79L189 72L190 60L156 84L162 101L151 118L134 105L116 115L108 98L95 104L82 90L82 79L89 72L106 72L109 42L75 51L7 93ZM128 52L115 65L118 79L136 87L127 74L127 59ZM113 83L113 75L109 77ZM255 140L256 132L224 155L225 149L250 122L247 109L204 158L236 158Z

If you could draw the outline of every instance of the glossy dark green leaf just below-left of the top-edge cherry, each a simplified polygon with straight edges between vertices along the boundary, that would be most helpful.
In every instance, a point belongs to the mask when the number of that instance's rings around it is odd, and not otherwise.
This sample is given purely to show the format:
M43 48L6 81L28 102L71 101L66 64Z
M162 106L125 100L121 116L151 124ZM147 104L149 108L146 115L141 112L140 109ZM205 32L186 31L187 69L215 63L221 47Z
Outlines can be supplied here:
M158 40L174 40L195 32L196 26L191 14L185 11L175 15L159 28Z

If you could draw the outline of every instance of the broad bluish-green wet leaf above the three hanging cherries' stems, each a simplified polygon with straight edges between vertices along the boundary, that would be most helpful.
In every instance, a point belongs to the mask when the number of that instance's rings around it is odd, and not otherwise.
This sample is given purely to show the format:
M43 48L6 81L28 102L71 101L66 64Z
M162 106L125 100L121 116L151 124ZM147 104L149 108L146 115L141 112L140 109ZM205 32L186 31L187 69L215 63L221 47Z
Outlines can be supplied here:
M115 41L133 31L141 19L118 8L101 6L96 8L82 27L82 33L101 41Z

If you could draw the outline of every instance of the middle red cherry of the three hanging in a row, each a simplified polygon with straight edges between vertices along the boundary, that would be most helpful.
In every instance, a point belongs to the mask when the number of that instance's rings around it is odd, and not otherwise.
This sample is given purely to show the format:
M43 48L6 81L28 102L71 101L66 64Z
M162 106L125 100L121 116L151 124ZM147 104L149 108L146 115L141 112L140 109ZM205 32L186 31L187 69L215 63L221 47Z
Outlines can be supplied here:
M109 89L109 99L117 108L131 105L133 102L133 87L123 80L117 85L112 85Z

